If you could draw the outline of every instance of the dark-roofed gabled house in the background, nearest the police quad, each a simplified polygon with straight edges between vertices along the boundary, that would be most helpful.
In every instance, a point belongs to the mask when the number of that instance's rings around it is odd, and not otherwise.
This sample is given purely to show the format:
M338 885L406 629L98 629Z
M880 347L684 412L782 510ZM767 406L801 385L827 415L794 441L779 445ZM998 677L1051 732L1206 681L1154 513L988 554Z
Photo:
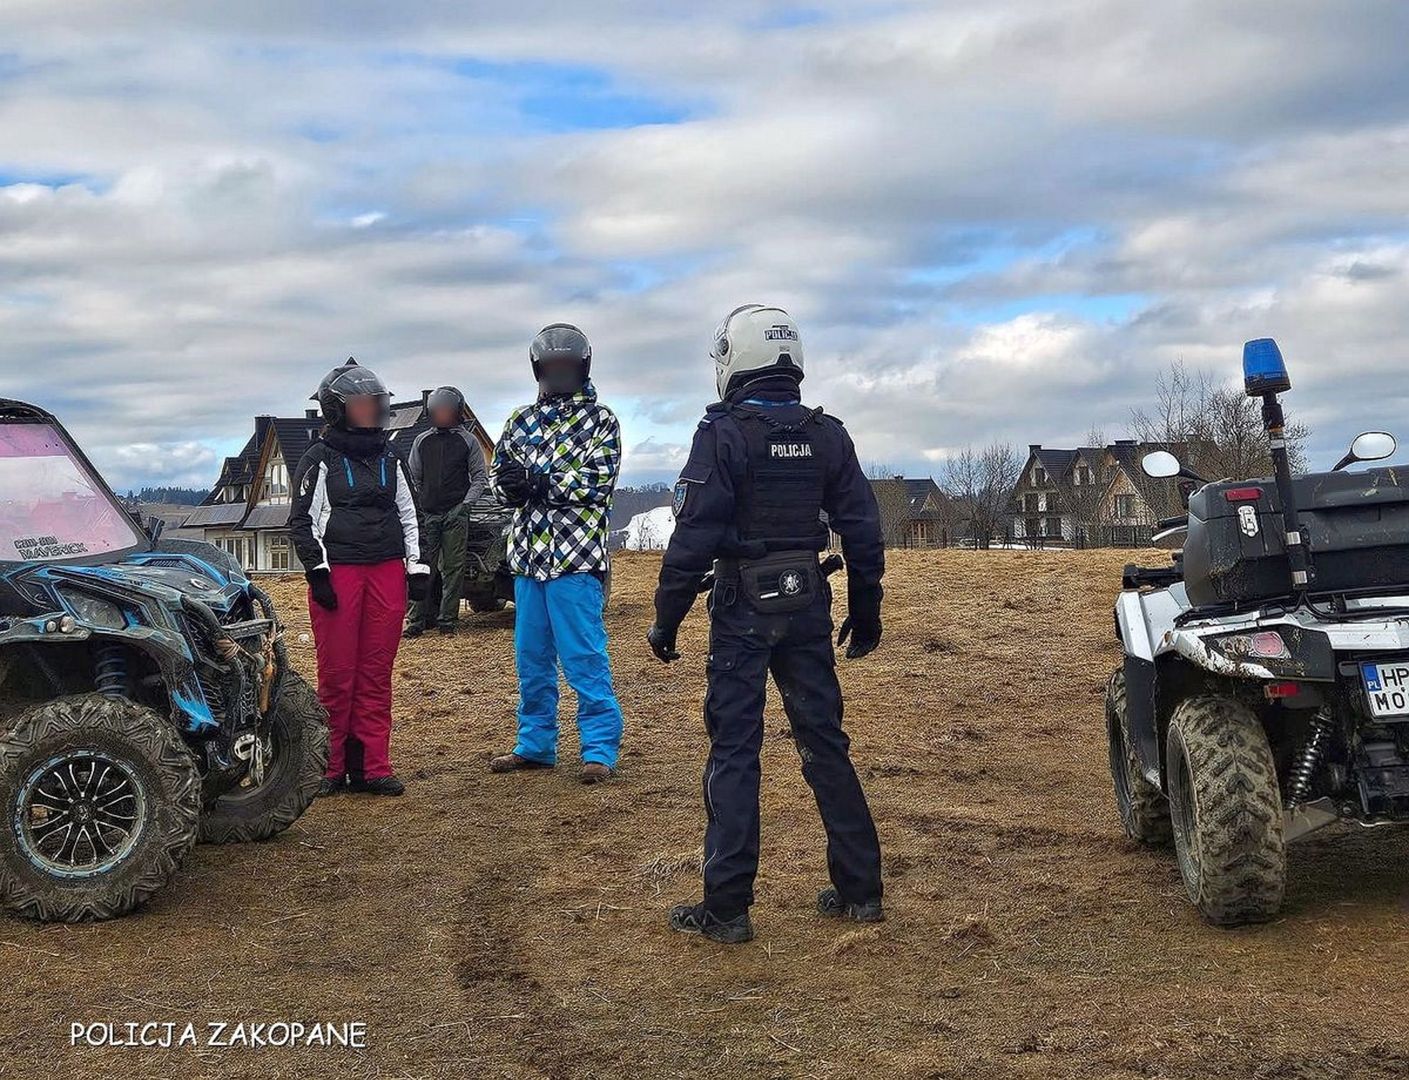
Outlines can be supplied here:
M1172 486L1157 487L1140 469L1140 460L1158 449L1196 463L1208 448L1198 439L1116 439L1072 449L1031 444L1009 500L1013 539L1031 546L1148 544L1155 521L1178 513L1165 501Z

